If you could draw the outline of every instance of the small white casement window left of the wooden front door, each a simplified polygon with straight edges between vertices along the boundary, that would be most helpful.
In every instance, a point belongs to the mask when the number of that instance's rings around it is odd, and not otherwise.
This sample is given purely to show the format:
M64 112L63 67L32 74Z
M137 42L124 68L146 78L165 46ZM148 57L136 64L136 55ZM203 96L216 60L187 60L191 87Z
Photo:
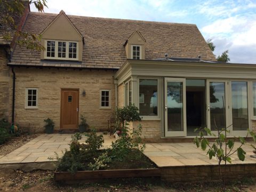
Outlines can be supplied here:
M26 88L26 109L38 109L38 88Z

